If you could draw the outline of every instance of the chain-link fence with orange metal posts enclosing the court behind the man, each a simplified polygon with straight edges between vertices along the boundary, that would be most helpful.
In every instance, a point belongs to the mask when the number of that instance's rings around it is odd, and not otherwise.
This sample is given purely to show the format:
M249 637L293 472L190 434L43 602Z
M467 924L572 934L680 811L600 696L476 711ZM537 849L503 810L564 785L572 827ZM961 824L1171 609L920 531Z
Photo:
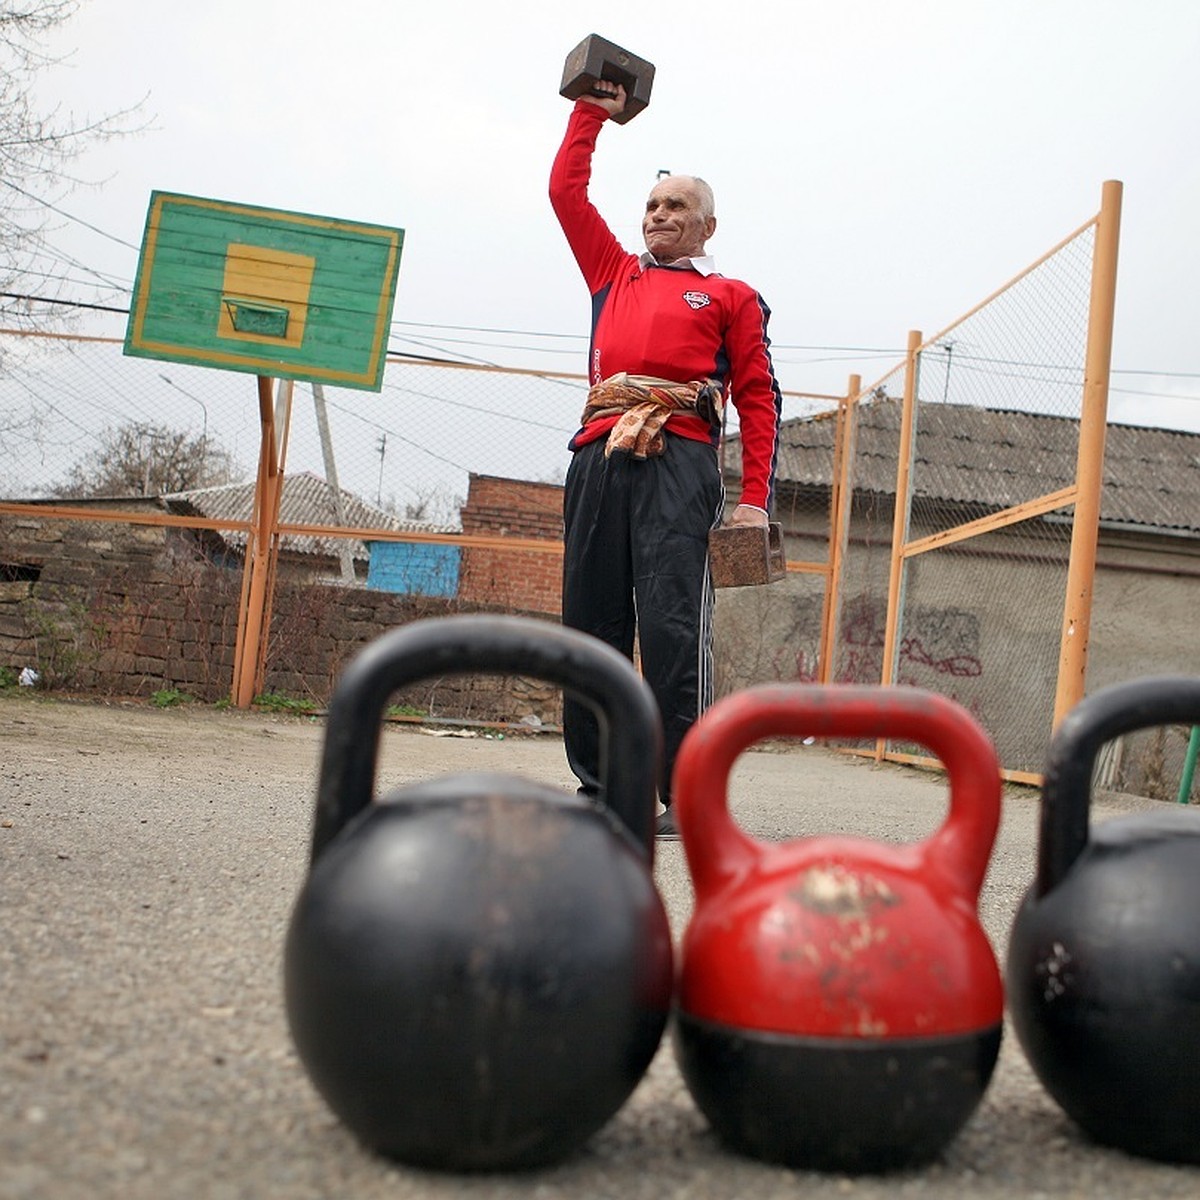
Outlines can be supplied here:
M1016 778L1036 775L1063 670L1098 222L942 332L912 335L878 380L851 379L845 397L785 392L774 517L790 572L719 593L719 692L920 685L974 713ZM392 358L378 394L298 383L264 396L248 374L127 358L113 338L11 332L0 364L10 674L214 700L230 678L245 696L252 672L256 689L323 703L389 624L462 608L557 618L581 376ZM1117 611L1138 562L1106 565L1093 672L1176 666ZM1166 587L1139 598L1147 612L1175 602ZM442 706L440 686L414 704ZM492 700L458 701L496 715ZM526 690L523 714L505 715L553 720L556 703Z

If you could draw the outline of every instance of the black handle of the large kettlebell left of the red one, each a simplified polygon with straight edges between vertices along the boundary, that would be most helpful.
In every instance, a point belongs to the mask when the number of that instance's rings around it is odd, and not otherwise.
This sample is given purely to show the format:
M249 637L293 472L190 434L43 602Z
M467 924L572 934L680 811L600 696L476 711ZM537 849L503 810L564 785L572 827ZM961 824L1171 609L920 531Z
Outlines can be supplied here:
M329 703L312 862L371 803L390 697L420 679L474 671L534 676L595 713L601 800L647 862L653 860L662 722L634 665L604 642L547 620L461 616L416 620L383 634L342 672Z

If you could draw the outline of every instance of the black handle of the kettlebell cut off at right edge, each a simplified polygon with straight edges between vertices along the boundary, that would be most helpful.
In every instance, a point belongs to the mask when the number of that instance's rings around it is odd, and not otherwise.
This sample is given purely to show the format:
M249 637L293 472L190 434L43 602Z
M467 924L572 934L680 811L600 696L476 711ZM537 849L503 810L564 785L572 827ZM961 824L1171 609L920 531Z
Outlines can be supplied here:
M1147 676L1085 696L1046 751L1034 894L1057 887L1087 845L1092 770L1106 742L1154 725L1200 724L1200 678Z

